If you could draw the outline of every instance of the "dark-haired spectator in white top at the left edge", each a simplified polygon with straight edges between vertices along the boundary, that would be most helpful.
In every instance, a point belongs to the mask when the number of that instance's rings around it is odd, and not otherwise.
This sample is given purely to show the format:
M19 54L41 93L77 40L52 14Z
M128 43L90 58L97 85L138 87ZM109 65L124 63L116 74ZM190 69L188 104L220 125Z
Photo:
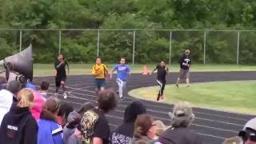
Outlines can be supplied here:
M12 103L17 102L16 95L21 88L22 86L18 81L12 81L7 85L7 90L0 90L0 126L2 118L10 110Z

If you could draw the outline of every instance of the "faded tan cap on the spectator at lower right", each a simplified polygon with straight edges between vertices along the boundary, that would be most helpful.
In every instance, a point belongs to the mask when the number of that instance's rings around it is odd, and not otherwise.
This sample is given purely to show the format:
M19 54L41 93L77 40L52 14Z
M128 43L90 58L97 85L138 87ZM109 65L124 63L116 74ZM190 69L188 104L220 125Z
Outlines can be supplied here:
M175 121L194 121L192 106L190 106L189 102L178 102L174 105L173 112L169 112L168 114Z

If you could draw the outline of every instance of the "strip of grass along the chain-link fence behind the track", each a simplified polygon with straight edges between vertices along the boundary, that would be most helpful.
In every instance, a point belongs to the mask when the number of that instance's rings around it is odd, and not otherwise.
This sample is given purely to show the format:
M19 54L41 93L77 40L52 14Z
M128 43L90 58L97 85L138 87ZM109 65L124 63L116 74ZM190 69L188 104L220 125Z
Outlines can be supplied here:
M70 64L70 74L90 74L91 68L94 64ZM109 69L112 69L114 64L106 65ZM130 65L133 73L142 73L144 65ZM155 65L147 65L151 71ZM178 65L170 65L172 72L179 70ZM242 66L242 65L193 65L192 71L234 71L234 70L256 70L256 66ZM34 76L50 76L54 75L53 64L34 64Z

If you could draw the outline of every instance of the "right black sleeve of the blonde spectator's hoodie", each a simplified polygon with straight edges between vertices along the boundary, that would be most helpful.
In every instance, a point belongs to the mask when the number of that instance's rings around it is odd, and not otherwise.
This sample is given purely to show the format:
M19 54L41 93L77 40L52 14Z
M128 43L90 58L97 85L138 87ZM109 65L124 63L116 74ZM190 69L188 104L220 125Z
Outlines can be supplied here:
M26 144L34 144L38 143L38 124L37 122L30 118L26 122L26 126L23 133L24 143Z

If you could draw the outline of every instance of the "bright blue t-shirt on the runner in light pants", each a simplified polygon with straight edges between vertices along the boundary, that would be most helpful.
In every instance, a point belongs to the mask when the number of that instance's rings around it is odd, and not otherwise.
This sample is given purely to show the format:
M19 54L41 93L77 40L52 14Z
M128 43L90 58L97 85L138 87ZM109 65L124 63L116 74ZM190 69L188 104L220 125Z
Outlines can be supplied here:
M130 67L127 65L116 65L114 66L114 70L118 71L117 78L121 79L122 81L126 81L128 77L128 73L130 73Z

